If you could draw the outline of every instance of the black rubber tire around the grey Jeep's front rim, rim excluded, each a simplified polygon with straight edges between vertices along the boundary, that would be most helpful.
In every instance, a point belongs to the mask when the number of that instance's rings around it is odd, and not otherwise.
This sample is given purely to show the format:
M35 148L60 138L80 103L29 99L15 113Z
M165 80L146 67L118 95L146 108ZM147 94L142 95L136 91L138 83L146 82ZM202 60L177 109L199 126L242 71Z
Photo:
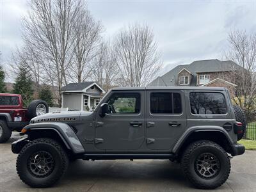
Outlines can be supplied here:
M55 166L52 172L45 177L36 177L29 171L28 159L38 151L49 152L54 159ZM67 168L67 153L58 142L49 138L40 138L30 141L22 148L16 162L16 169L20 179L33 188L47 188L52 186L63 177Z

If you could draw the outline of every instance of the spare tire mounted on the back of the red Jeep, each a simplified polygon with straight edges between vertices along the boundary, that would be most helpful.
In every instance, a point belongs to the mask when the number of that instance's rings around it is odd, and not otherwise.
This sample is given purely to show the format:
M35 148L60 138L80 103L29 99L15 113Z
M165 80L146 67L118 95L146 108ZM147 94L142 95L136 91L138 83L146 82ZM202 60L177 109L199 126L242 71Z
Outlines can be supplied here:
M33 100L29 106L27 111L28 118L34 118L35 116L44 115L49 112L49 106L44 100Z

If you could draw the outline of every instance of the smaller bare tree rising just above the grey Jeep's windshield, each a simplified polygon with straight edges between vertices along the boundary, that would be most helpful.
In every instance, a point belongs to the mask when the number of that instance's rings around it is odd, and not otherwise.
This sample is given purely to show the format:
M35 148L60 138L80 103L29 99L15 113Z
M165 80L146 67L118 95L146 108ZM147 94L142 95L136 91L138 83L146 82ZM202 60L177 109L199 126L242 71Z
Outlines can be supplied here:
M99 52L93 59L93 65L93 81L108 91L116 83L116 75L118 74L116 55L111 45L101 42Z

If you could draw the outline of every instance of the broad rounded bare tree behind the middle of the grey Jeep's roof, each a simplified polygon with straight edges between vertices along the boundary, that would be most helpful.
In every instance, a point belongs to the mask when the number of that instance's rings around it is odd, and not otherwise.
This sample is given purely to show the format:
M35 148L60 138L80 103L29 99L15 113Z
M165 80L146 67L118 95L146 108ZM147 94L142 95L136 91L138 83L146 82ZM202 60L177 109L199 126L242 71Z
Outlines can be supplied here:
M114 44L121 86L145 86L156 77L160 54L147 25L134 24L121 30Z

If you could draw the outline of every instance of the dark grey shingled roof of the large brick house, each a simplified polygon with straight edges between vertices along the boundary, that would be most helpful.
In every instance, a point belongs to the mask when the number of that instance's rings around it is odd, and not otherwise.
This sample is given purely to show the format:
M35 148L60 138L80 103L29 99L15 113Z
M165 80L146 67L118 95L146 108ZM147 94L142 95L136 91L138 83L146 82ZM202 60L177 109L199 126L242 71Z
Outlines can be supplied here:
M193 61L187 65L178 65L174 67L172 70L161 76L161 80L165 86L176 86L178 81L178 76L180 70L185 68L191 74L193 74L191 78L190 86L196 86L196 74L200 72L225 72L236 70L236 68L241 68L239 65L234 63L233 61L220 61L220 60L200 60ZM157 81L159 81L159 77L152 81L148 86L158 86Z

